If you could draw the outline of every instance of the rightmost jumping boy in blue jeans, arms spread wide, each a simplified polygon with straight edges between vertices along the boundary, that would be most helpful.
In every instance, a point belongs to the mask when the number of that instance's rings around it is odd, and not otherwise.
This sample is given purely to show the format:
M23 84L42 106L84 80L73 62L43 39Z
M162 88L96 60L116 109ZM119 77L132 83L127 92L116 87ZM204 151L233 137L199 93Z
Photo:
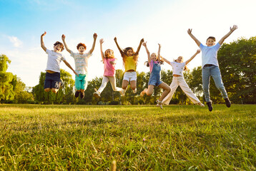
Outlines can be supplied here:
M210 100L210 76L212 76L213 80L215 81L215 86L220 90L222 94L222 98L225 99L225 103L227 108L230 108L231 103L229 98L227 97L227 91L222 82L222 76L220 73L219 63L217 60L217 51L219 50L222 43L225 39L230 36L233 31L237 29L237 26L234 25L232 28L230 27L230 31L223 36L220 41L215 45L215 37L210 36L207 38L206 45L202 45L200 41L192 35L192 29L188 29L187 33L189 36L197 43L197 46L200 47L202 51L202 88L205 94L205 101L207 102L208 109L212 111L212 101Z

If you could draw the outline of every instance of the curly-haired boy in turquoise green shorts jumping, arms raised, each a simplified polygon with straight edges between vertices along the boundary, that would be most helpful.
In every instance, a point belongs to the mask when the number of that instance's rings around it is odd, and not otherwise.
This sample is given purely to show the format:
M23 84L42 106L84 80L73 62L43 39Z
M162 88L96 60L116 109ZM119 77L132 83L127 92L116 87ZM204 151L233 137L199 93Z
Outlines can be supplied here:
M77 50L79 51L79 53L74 53L67 46L67 43L65 41L66 36L64 34L62 34L62 36L61 36L65 48L70 53L70 56L72 56L74 58L74 63L75 63L75 66L76 66L75 69L76 69L77 73L79 74L75 78L75 86L76 86L77 91L76 91L74 96L76 98L78 98L79 93L80 93L80 97L84 98L84 90L87 89L88 58L90 56L92 56L92 52L94 51L96 38L97 38L97 33L94 33L93 37L94 37L94 42L92 44L91 50L88 53L85 53L85 50L87 49L87 46L85 46L84 43L79 43L77 45Z

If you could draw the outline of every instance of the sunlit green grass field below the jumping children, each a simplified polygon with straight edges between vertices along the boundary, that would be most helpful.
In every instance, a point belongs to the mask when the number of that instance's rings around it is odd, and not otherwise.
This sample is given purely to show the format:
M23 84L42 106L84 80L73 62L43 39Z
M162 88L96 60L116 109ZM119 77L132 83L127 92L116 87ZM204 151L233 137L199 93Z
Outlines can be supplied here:
M256 170L256 105L0 105L0 170Z

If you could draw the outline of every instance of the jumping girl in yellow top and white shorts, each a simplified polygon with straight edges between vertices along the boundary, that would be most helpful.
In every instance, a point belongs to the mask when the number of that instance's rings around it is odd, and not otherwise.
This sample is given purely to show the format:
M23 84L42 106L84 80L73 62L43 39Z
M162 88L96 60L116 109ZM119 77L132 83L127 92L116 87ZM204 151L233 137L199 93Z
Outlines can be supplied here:
M125 91L127 90L128 83L130 82L130 86L132 88L133 93L137 93L137 73L136 73L136 68L137 68L137 61L139 58L139 49L142 46L142 43L144 42L144 39L139 42L139 47L137 48L137 51L134 53L133 48L127 47L122 50L122 48L119 47L117 43L117 37L114 38L114 42L117 44L117 48L121 53L121 56L123 58L123 63L124 63L124 78L122 82L122 89L123 93L121 94L122 96L124 95Z

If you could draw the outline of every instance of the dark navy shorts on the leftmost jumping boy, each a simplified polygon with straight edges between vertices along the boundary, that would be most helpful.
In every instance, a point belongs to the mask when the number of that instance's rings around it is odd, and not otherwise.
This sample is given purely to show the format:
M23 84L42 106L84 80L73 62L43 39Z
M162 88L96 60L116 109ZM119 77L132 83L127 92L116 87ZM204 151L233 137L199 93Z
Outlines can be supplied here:
M45 74L44 89L56 88L59 89L59 82L61 80L61 73L48 73Z

